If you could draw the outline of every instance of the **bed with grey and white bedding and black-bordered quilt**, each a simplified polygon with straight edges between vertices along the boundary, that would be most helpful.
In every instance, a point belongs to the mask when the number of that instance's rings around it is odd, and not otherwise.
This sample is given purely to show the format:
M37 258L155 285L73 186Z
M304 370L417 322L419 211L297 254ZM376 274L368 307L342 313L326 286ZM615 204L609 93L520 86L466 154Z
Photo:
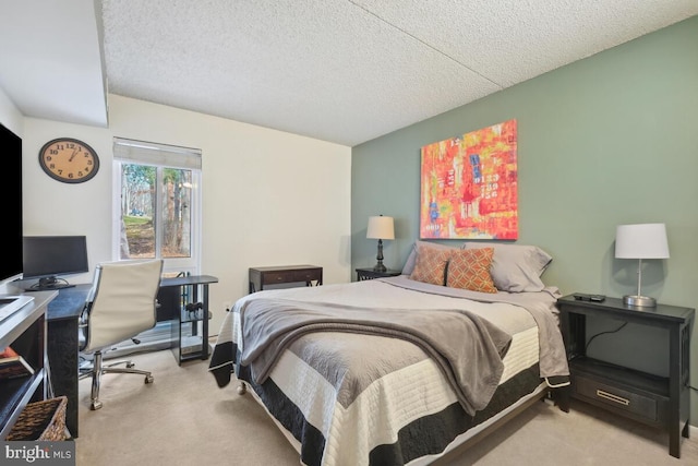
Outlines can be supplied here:
M459 275L465 249L418 241L397 277L248 295L226 315L209 371L221 387L233 373L239 393L251 387L302 464L443 458L569 375L558 291L540 280L512 291L494 279L496 248L481 243L474 253L490 254L481 262L496 286L454 286L447 271ZM426 262L443 275L425 279Z

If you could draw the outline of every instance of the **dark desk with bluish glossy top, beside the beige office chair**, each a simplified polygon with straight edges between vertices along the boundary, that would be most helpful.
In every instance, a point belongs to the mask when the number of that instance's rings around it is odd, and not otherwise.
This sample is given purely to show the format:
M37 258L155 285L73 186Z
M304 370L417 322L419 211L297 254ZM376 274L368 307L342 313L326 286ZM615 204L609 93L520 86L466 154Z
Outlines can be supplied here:
M62 288L48 303L47 353L55 396L68 398L65 427L77 438L77 324L92 284Z

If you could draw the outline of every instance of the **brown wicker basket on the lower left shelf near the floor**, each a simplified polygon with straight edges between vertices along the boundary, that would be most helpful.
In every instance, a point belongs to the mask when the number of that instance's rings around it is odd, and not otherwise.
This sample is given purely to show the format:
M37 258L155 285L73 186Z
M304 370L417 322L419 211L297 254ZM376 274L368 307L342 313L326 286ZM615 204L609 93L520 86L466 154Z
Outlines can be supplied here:
M59 396L29 403L20 414L7 440L65 440L65 406L68 398Z

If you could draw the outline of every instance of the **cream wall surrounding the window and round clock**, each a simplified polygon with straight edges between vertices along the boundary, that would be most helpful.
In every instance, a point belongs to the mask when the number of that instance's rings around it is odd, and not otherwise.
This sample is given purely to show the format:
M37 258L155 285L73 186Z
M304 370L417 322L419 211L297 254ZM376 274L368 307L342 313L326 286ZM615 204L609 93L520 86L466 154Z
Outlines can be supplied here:
M0 118L13 113L0 99ZM219 278L210 287L214 334L224 303L246 294L250 266L310 263L324 267L326 284L350 280L350 147L115 95L108 129L22 123L25 235L86 235L91 271L112 259L112 138L202 150L202 273ZM93 180L64 184L41 171L38 151L58 136L97 151Z

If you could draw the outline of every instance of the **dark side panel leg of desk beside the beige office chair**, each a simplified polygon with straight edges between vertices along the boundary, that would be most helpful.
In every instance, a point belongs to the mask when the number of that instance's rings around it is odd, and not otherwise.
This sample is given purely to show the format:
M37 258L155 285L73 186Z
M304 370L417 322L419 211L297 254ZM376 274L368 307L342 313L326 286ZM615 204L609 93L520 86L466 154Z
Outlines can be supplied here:
M77 319L48 322L48 360L55 396L65 396L65 426L77 438Z

